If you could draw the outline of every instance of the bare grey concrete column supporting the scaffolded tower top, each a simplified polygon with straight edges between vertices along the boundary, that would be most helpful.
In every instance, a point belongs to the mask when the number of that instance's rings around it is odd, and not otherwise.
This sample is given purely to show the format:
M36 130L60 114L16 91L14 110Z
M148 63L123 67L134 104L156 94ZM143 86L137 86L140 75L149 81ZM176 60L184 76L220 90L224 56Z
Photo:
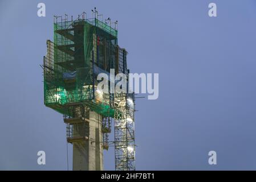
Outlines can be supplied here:
M74 125L74 137L83 137L88 140L73 143L73 170L99 171L103 170L103 136L101 132L101 115L94 111L89 112L89 122ZM87 127L87 129L86 129ZM88 135L89 132L89 135Z

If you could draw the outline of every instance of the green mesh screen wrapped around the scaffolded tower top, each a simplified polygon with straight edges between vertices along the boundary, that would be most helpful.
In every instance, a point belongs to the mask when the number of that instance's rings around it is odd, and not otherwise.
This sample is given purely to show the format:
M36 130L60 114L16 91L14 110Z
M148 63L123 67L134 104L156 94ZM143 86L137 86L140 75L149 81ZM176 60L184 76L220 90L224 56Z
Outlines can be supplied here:
M54 23L54 43L44 57L44 104L62 114L84 104L113 117L111 97L99 96L93 67L116 67L117 31L97 19ZM93 61L94 60L94 61Z

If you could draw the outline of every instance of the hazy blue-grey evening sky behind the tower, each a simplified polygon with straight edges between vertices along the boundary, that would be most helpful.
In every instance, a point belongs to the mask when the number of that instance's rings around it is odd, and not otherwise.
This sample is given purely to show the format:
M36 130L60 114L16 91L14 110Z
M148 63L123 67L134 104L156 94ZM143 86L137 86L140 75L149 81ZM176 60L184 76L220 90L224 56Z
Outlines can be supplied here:
M37 16L40 2L46 17ZM216 18L208 16L210 2ZM131 72L159 73L159 99L136 101L136 168L255 170L254 0L1 0L0 169L67 169L66 126L43 104L39 64L53 15L75 17L95 6L118 20ZM39 150L46 151L44 166L36 162ZM216 166L208 164L210 150ZM113 148L104 152L104 167L115 169Z

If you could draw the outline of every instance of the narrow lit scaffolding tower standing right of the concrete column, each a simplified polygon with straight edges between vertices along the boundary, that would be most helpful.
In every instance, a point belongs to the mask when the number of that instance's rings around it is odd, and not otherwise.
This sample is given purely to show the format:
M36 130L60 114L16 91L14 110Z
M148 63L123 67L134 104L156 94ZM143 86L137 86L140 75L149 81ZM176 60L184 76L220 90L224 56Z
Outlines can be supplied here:
M116 170L135 170L134 94L115 93Z

